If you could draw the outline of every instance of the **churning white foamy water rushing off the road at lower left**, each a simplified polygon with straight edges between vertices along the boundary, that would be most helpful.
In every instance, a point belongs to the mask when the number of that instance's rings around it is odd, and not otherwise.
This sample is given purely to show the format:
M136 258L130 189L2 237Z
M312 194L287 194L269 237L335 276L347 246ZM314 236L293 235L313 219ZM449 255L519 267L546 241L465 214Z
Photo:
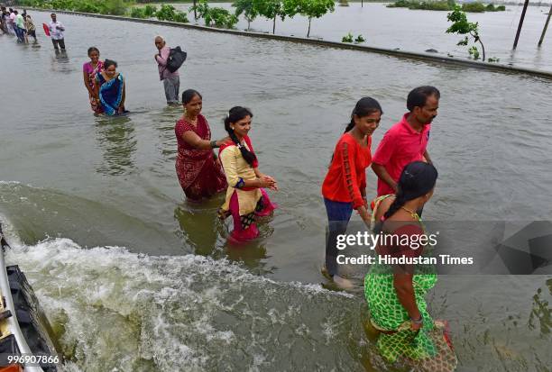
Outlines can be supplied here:
M6 259L28 277L70 371L276 367L286 357L272 350L274 337L322 334L322 322L306 325L315 310L351 297L256 277L225 259L82 249L69 239L14 242Z

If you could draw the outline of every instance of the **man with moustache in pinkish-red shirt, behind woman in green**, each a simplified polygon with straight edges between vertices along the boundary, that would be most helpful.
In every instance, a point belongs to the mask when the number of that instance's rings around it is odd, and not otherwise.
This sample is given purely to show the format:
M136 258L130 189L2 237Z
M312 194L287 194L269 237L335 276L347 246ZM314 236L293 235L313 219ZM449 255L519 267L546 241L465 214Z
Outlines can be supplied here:
M378 176L378 196L397 192L400 173L412 161L431 163L427 150L429 131L437 116L440 96L435 86L419 86L409 93L409 113L383 135L372 159Z

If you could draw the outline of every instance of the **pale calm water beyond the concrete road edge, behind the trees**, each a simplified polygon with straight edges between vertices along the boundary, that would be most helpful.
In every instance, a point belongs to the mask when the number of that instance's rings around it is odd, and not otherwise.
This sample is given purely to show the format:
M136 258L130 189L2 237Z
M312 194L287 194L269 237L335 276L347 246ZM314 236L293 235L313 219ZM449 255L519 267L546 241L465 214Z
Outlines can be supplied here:
M175 4L181 10L190 5ZM216 4L230 9L230 3ZM522 6L507 6L505 12L468 13L468 21L479 23L479 35L485 46L487 57L500 59L501 64L511 64L523 68L538 68L552 71L552 34L548 30L544 42L538 47L538 40L547 21L550 5L529 6L523 29L520 33L518 48L512 51L513 41L520 23ZM341 41L348 32L354 37L363 35L365 45L424 52L437 50L437 55L451 55L455 58L468 58L466 47L456 43L462 39L459 35L446 33L451 23L446 21L448 12L409 10L406 8L387 8L382 3L349 3L349 6L337 6L334 13L313 19L310 37L328 41ZM193 14L189 14L193 20ZM202 20L198 21L203 24ZM236 28L245 30L247 22L243 17ZM272 21L258 17L251 23L251 29L257 32L272 32ZM276 33L284 35L307 36L308 19L296 15L284 22L276 21ZM471 45L471 44L470 44ZM480 48L480 45L477 44ZM481 50L481 48L480 48Z

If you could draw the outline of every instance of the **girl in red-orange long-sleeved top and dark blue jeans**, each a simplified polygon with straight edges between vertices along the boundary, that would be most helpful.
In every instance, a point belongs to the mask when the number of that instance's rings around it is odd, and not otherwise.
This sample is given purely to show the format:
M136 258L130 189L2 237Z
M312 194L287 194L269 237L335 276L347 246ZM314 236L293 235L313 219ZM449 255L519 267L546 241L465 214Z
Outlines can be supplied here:
M337 275L337 235L344 234L353 209L370 224L366 202L366 172L372 162L372 133L382 119L382 106L371 97L363 97L354 106L351 122L336 145L332 162L322 185L329 233L326 243L327 275L337 286L351 283Z

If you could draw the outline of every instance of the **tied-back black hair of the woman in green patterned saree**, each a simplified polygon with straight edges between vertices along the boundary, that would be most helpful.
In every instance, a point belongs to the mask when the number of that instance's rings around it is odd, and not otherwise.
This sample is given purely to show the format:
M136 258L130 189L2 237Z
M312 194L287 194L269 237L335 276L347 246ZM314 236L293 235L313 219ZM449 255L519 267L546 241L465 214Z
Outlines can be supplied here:
M428 194L437 182L437 168L423 161L409 163L400 173L395 200L383 215L388 219L410 200Z

